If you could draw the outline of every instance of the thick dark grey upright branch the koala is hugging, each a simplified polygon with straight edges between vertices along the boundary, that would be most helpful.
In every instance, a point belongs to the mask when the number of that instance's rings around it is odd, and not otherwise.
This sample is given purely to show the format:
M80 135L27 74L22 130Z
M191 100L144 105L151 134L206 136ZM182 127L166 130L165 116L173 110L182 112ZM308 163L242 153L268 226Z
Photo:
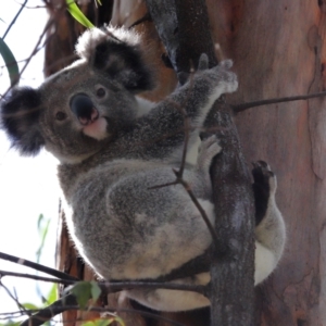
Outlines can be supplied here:
M217 63L203 0L146 2L179 79L180 73L197 67L203 52L209 55L211 66ZM216 103L205 126L216 130L223 148L211 171L218 236L211 264L211 325L251 326L254 315L254 209L250 175L231 108Z

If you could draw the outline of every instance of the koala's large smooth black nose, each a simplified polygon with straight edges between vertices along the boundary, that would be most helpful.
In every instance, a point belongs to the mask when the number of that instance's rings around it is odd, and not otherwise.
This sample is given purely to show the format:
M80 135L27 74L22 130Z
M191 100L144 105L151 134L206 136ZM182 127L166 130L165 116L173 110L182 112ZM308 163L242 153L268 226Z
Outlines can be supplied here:
M71 110L78 117L82 125L88 125L99 117L99 112L91 99L85 93L78 93L71 99Z

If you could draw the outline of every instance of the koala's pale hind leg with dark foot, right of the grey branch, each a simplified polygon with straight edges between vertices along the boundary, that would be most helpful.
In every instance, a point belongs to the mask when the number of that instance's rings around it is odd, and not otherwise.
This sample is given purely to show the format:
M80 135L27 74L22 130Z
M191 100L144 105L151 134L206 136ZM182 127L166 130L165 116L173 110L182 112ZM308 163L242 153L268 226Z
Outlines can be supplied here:
M275 192L277 181L269 166L259 161L253 163L252 185L255 199L255 284L264 280L276 267L286 240L286 229Z

